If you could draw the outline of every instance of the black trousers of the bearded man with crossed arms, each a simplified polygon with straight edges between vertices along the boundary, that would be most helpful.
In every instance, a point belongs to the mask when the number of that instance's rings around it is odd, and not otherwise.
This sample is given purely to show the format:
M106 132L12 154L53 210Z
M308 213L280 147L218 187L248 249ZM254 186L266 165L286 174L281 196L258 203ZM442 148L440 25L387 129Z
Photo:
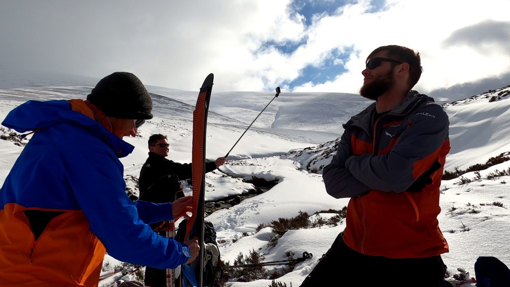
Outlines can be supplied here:
M402 286L442 287L446 266L441 256L392 259L358 253L340 233L301 287Z

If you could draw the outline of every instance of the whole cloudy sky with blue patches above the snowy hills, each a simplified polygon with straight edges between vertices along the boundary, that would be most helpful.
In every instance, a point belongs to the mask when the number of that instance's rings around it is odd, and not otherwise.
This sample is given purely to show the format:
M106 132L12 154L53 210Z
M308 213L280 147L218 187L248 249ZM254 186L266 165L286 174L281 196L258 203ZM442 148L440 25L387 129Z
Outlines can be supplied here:
M419 91L458 100L510 84L508 0L0 0L0 70L215 91L357 93L368 54L422 55Z

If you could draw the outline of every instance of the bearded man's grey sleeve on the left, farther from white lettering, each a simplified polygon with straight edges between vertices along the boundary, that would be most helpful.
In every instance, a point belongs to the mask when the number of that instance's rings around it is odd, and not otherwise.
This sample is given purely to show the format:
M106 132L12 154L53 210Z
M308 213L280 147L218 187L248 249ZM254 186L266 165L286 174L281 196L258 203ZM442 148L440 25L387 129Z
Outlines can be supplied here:
M322 170L326 192L334 198L349 198L367 194L370 188L356 179L346 168L345 160L352 155L350 133L345 130L331 163Z

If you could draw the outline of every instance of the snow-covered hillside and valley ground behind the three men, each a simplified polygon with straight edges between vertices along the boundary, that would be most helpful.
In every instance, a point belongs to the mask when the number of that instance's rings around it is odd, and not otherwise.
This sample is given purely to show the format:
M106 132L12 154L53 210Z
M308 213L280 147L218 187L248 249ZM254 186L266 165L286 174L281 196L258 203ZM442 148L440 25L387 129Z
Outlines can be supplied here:
M84 99L91 87L60 86L0 90L0 121L15 106L27 100ZM135 138L126 139L135 146L132 155L123 158L128 186L137 193L136 179L147 156L147 139L151 134L168 135L169 158L179 162L191 161L192 111L198 91L181 91L148 87L153 93L155 117L147 121ZM476 95L464 101L445 104L450 117L451 152L447 170L466 169L475 163L510 151L506 120L510 108L510 87ZM211 98L207 158L224 156L242 132L274 97L264 92L223 92ZM493 98L495 97L495 98ZM499 98L498 98L499 97ZM273 236L269 224L278 218L291 218L300 211L329 217L328 209L340 210L347 199L334 199L325 192L322 167L335 152L336 140L342 133L342 124L370 102L359 95L345 93L285 93L266 109L231 152L220 170L206 177L206 199L248 193L253 185L243 180L253 177L277 180L268 192L244 200L229 209L214 212L207 219L215 224L220 251L224 261L233 263L242 252L252 249L265 254L266 260L285 259L285 252L304 251L314 257L296 265L296 268L277 278L277 281L298 286L313 269L320 255L326 252L336 235L345 227L316 226L289 230L274 246L268 241ZM10 131L2 133L8 135ZM29 137L30 138L30 137ZM0 140L0 183L22 150L10 140ZM450 271L462 267L474 275L477 256L496 256L510 265L510 182L507 174L510 161L491 166L479 174L464 174L442 185L440 227L450 245L450 253L443 258ZM496 171L497 170L497 171ZM191 193L187 187L186 193ZM311 216L312 220L317 216ZM116 264L115 259L107 261ZM269 268L271 270L271 268ZM416 276L410 274L409 276ZM425 276L420 274L420 276ZM108 286L111 280L101 281ZM237 286L268 286L269 279L253 282L228 283ZM381 286L386 286L381 282Z

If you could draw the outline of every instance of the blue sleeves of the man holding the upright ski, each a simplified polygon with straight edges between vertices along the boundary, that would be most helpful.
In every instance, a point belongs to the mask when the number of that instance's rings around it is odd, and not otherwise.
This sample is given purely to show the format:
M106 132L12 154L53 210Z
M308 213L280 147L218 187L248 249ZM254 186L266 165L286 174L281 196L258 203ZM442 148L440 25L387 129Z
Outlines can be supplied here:
M90 143L73 147L67 154L62 152L62 160L69 166L68 184L90 223L90 230L105 245L108 254L118 260L160 269L175 268L191 257L188 246L158 235L144 223L164 219L161 214L164 209L169 211L170 206L152 209L145 203L133 203L124 192L123 167L115 154Z

